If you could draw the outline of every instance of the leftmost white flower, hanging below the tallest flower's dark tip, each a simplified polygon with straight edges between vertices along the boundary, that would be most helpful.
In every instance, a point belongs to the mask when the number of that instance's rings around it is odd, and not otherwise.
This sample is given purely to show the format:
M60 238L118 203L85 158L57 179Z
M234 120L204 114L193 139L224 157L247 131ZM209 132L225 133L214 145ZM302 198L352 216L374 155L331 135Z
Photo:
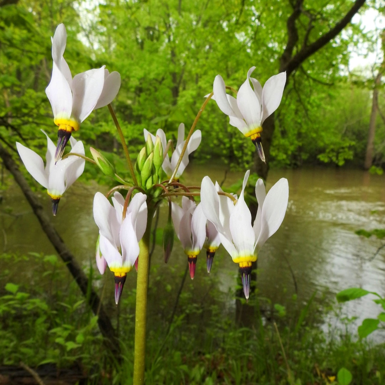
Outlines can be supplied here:
M16 142L16 147L27 171L47 189L48 195L52 198L52 211L56 215L60 198L64 191L82 175L85 160L79 156L71 155L55 163L55 144L45 132L44 134L47 136L45 167L42 157L36 152L18 142ZM84 156L84 146L81 141L70 138L70 144L72 147L70 153Z

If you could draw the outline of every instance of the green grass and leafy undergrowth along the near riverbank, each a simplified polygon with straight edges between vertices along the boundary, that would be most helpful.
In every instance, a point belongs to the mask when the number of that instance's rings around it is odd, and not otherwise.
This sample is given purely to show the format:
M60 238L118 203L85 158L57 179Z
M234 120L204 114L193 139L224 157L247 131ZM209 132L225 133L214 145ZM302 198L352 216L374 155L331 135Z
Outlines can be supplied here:
M9 258L16 264L32 259L44 277L32 277L32 284L27 284L8 282L7 271L1 273L0 362L21 361L32 368L47 362L59 368L76 363L87 373L89 384L130 384L134 288L125 287L119 308L109 308L122 348L122 357L114 357L103 344L96 317L54 256L3 255L0 261ZM152 266L152 273L158 268ZM266 300L255 296L247 305L254 322L241 328L229 305L233 293L220 293L213 278L204 279L204 290L195 293L186 280L170 326L177 288L169 282L177 287L183 272L169 273L168 283L153 279L149 288L149 298L156 301L150 301L149 308L146 383L332 384L338 383L336 374L343 367L352 373L352 384L383 383L383 345L358 339L347 319L340 321L345 328L321 329L323 316L337 312L337 303L321 307L313 296L303 306L292 298L286 308L269 306L272 310L266 313L259 310Z

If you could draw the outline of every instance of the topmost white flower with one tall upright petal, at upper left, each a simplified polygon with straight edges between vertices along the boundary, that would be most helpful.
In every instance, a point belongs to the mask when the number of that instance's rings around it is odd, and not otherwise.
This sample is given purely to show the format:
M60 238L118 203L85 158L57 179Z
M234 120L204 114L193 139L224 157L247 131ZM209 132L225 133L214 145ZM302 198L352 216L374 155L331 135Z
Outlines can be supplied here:
M59 126L55 161L63 155L72 131L79 130L80 123L94 110L112 102L117 95L121 77L118 72L109 73L103 65L74 76L63 54L67 43L64 24L56 28L52 40L52 77L45 93L51 103L54 122Z

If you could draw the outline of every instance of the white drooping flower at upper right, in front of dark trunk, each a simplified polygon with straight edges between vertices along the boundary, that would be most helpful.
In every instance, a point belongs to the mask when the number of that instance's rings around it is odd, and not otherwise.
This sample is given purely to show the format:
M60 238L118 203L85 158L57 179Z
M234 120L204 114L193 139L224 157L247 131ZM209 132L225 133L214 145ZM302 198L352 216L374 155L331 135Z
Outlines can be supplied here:
M250 137L263 162L265 157L261 144L262 124L280 105L286 83L286 72L272 76L263 86L250 77L256 67L251 67L247 79L239 88L236 99L226 94L221 75L214 79L214 99L219 109L229 115L231 126L237 127L244 136ZM250 81L253 84L251 88Z

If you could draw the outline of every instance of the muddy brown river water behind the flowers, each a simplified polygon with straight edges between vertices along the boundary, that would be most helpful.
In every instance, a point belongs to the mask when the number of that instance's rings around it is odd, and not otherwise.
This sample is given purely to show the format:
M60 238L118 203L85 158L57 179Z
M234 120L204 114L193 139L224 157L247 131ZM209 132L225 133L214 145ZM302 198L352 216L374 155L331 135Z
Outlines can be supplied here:
M199 185L206 174L218 181L224 177L219 167L194 165L185 171L184 179L188 184ZM332 296L352 286L385 295L385 249L373 259L381 241L354 233L360 228L385 228L385 176L345 169L272 170L267 189L282 176L289 181L288 211L281 228L267 241L259 255L260 295L270 298L273 303L286 304L295 293L294 279L302 301L310 298L314 290L326 290ZM241 178L243 173L229 172L225 185ZM92 216L92 200L98 189L95 184L75 184L61 199L58 216L52 218L64 241L85 266L94 261L97 226ZM42 194L41 201L50 214L49 197ZM12 208L10 213L7 213L8 207ZM0 209L1 251L54 253L17 186L4 192ZM159 263L158 275L167 276L169 269L174 267L184 271L187 258L177 242L168 265L161 263L162 256L158 251L159 248L153 260L153 263ZM206 256L201 253L198 264L204 266L205 263ZM2 268L10 269L10 280L20 275L20 271L12 271L12 264ZM33 266L28 268L28 275L31 271ZM237 265L222 250L215 257L211 275L219 278L219 288L226 292L234 286L237 271ZM133 287L135 280L133 275L127 280L127 286ZM156 277L151 280L156 283ZM203 281L199 276L191 283L193 288L203 284L206 284L206 278ZM365 317L377 316L379 312L370 298L354 301L347 308L350 315L365 313Z

